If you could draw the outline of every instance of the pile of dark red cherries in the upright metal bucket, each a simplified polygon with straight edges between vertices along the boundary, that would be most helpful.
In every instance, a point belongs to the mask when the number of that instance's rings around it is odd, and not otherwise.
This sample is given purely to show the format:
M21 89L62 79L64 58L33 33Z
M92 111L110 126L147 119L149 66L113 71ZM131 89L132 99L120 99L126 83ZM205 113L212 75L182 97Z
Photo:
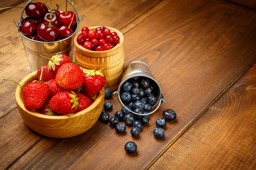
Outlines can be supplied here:
M73 11L52 10L47 3L29 3L25 8L24 18L20 31L32 40L50 42L63 40L74 33L73 26L76 24L76 15ZM48 10L49 8L49 10Z

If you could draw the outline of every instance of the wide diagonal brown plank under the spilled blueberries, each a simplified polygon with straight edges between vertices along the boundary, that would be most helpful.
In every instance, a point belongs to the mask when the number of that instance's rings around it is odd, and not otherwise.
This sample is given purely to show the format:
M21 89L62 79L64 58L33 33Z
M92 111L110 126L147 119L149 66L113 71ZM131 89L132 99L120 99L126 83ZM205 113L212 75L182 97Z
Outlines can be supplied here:
M148 63L167 101L151 115L140 137L131 137L131 127L119 135L97 122L73 138L41 139L12 168L146 168L256 59L255 20L255 11L227 1L170 1L124 34L125 63ZM110 101L113 116L122 107L116 96ZM177 121L168 123L165 138L157 140L152 134L155 120L166 108L177 112ZM131 140L138 145L134 155L123 148Z

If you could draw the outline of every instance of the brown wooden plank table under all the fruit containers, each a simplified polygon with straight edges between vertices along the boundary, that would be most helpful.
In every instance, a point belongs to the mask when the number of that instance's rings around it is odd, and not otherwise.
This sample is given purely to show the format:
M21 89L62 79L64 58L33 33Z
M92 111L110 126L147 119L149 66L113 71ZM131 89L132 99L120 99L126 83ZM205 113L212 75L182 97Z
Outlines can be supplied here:
M63 0L53 0L65 8ZM125 37L125 65L148 63L166 104L140 137L97 122L67 139L41 136L17 111L16 85L29 74L12 20L0 14L0 169L256 169L256 11L226 0L74 0L79 28L110 26ZM24 6L24 3L19 6ZM122 106L115 95L111 116ZM155 139L164 109L177 112ZM125 153L134 141L136 154Z

